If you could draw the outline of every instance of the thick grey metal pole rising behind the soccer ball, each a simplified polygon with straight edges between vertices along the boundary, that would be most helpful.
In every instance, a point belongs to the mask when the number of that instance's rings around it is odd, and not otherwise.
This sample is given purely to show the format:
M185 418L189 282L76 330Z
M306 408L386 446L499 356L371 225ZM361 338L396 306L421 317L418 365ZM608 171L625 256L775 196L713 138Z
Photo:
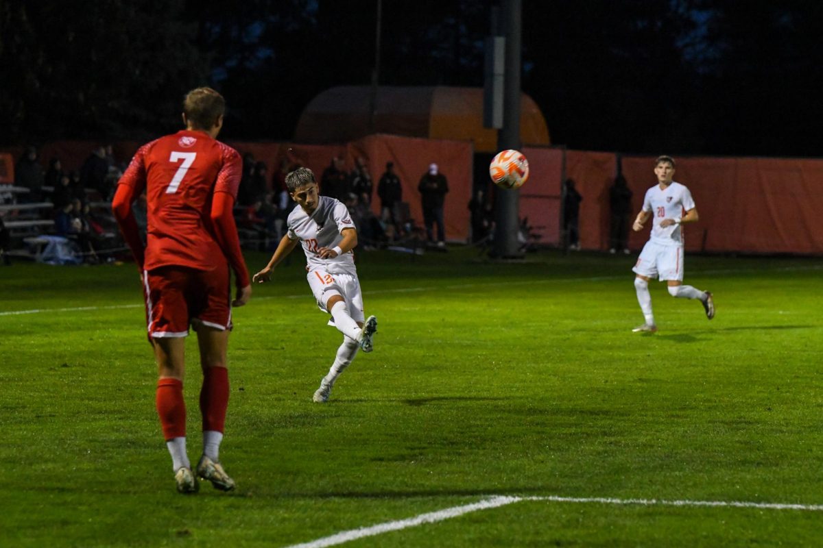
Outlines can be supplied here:
M500 15L503 16L505 45L505 83L503 96L503 129L498 132L498 148L520 149L520 58L522 0L503 0ZM519 191L496 192L494 256L519 258L523 256L518 242L520 219L518 215Z

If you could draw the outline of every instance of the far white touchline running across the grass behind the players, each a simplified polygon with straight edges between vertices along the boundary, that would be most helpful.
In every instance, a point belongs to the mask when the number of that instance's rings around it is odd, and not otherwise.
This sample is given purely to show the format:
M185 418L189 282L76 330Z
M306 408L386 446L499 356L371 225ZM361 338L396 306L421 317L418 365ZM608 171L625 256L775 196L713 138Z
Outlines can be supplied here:
M823 269L823 265L813 265L813 266L797 266L797 267L786 267L786 268L779 268L779 269L770 269L774 272L797 272L802 270L820 270ZM740 274L742 272L746 272L745 270L735 270L735 269L726 269L726 270L704 270L697 272L695 274ZM559 278L559 279L528 279L528 280L519 280L519 281L509 281L506 282L506 285L523 285L528 283L574 283L574 282L603 282L612 279L630 279L630 274L627 275L619 275L619 276L591 276L589 278ZM442 286L445 289L464 289L464 288L476 288L476 287L484 287L490 285L499 285L498 282L478 282L478 283L458 283L455 285L446 285ZM437 287L417 287L417 288L399 288L399 289L378 289L374 291L365 291L363 292L365 295L381 295L386 293L410 293L410 292L421 292L421 291L431 291L435 290ZM300 295L269 295L267 297L252 297L252 302L257 301L265 301L268 299L299 299L299 298L307 298L310 299L310 295L308 292L301 293ZM0 311L0 316L5 315L25 315L25 314L40 314L43 312L79 312L79 311L98 311L98 310L119 310L123 308L141 308L144 306L143 304L130 304L130 305L109 305L109 306L72 306L67 308L35 308L32 310L23 310L23 311Z

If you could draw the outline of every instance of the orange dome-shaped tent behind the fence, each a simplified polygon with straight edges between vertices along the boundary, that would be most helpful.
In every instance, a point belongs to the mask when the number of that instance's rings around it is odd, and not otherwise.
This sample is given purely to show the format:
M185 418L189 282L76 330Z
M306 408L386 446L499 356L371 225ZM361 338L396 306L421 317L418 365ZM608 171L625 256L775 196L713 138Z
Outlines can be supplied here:
M295 130L300 143L343 143L374 133L426 139L471 140L475 152L496 152L497 130L483 127L483 90L445 86L380 86L370 116L372 88L345 85L325 90L304 109ZM523 145L549 145L540 108L520 100Z

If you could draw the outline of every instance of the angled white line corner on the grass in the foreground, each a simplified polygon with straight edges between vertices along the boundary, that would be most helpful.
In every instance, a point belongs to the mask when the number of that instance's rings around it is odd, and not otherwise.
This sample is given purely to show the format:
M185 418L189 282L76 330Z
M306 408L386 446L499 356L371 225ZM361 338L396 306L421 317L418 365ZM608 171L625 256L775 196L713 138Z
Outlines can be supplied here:
M495 496L491 499L480 502L465 504L463 506L453 506L451 508L438 510L436 512L421 513L414 518L400 519L393 522L378 523L370 527L360 527L335 533L331 536L323 536L314 541L304 542L287 546L286 548L323 548L324 546L336 546L344 542L355 541L365 536L382 535L384 532L399 531L408 527L417 527L424 523L442 522L445 519L458 518L465 513L477 512L490 508L498 508L506 504L514 504L521 501L546 501L560 503L593 503L593 504L620 504L620 505L640 505L640 506L680 506L680 507L711 507L711 508L754 508L768 510L805 510L809 512L823 511L823 504L781 504L770 502L745 502L726 500L657 500L657 499L608 499L603 497L565 497L565 496Z

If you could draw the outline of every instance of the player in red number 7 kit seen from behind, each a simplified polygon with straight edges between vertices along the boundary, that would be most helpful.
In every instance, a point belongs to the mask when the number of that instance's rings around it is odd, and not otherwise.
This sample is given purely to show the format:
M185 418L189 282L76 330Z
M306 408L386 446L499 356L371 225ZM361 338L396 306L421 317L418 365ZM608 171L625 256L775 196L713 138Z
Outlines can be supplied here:
M186 129L143 145L114 194L112 210L141 271L148 336L160 374L156 406L172 458L177 490L198 490L186 454L183 399L188 327L198 334L203 454L196 469L216 489L233 490L218 459L229 402L226 350L231 306L243 306L252 289L232 214L243 163L216 139L226 103L215 90L190 91L183 104ZM132 202L146 191L146 245ZM231 301L230 272L237 292Z

